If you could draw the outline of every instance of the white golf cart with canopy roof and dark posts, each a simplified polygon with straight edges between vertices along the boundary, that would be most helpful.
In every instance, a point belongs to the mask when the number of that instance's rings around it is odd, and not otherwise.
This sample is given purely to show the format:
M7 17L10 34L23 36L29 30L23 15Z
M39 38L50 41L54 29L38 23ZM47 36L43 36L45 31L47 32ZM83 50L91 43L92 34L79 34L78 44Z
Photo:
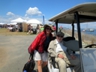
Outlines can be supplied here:
M96 3L85 3L77 5L69 10L66 10L51 19L49 21L55 22L56 32L58 32L58 24L71 24L72 25L72 36L74 37L75 28L74 24L77 25L78 39L71 42L71 46L76 54L77 50L79 51L79 57L81 61L81 72L96 72L96 49L92 48L96 44L87 45L82 48L82 38L81 38L81 28L80 24L85 22L96 22ZM78 40L78 41L77 41ZM74 42L76 41L76 42ZM74 44L76 43L76 44ZM69 44L69 43L68 43ZM75 45L75 46L74 46ZM70 46L70 44L68 45ZM76 49L76 48L79 49ZM52 65L52 66L51 66ZM59 72L58 68L54 66L54 63L48 63L49 72ZM70 67L69 67L70 68ZM71 69L67 69L67 72L71 72Z

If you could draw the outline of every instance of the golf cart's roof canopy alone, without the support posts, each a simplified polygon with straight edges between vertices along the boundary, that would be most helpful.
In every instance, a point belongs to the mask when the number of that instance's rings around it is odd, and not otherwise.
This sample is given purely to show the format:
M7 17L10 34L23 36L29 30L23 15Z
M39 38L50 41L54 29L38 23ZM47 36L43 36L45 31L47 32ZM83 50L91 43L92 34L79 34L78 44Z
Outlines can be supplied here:
M76 20L74 19L74 14L76 12L78 12L81 23L94 22L96 21L96 2L79 4L69 10L57 14L50 18L49 21L55 22L58 20L58 23L76 23Z

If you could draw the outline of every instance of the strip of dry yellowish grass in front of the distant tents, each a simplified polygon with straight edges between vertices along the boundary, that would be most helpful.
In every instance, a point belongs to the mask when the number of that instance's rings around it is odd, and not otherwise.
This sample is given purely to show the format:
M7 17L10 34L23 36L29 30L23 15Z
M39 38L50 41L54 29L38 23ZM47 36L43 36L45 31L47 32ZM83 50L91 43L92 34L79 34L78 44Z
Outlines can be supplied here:
M0 35L30 35L30 34L27 34L27 32L11 32L7 28L0 28Z

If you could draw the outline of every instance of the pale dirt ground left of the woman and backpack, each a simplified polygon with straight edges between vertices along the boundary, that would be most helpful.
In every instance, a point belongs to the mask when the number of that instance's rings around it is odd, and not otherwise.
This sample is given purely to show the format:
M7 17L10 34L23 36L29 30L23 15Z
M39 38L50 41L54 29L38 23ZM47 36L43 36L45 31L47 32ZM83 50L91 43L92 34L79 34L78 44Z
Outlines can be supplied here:
M0 35L0 72L22 72L28 61L28 47L36 35Z

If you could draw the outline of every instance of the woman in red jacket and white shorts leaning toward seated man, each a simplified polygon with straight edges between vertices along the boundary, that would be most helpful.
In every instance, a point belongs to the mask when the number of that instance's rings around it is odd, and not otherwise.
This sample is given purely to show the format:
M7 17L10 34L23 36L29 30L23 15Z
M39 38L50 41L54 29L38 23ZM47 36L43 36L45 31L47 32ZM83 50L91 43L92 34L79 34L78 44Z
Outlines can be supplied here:
M38 72L42 72L42 68L47 65L48 55L47 48L49 42L52 40L52 29L50 26L45 25L44 31L39 33L32 44L29 46L29 53L34 52L34 60L37 62Z

